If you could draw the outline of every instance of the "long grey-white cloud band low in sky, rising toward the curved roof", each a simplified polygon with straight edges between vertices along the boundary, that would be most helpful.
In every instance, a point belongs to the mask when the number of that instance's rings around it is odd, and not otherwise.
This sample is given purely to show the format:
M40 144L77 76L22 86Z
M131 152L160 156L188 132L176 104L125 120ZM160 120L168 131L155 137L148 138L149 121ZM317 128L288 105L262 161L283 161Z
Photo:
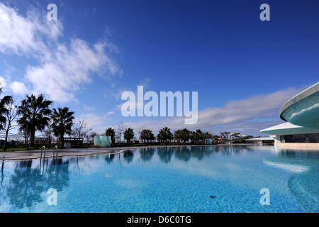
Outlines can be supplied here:
M185 125L184 118L150 118L139 122L127 122L126 126L132 128L150 128L159 131L163 126L173 130L179 128L209 128L216 131L236 130L244 133L257 133L264 126L271 126L279 121L279 108L302 89L289 88L270 94L260 94L247 99L228 101L225 106L208 108L198 113L198 121L194 125Z

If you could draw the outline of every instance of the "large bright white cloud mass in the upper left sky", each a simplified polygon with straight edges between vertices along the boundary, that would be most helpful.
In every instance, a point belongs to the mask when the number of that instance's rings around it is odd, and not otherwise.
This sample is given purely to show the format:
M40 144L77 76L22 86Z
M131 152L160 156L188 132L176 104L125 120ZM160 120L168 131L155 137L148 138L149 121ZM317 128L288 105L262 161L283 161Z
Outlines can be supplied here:
M39 16L43 15L43 16ZM47 21L46 13L31 8L27 16L0 3L0 52L33 56L39 65L28 66L21 82L10 87L21 94L29 91L44 93L59 102L77 101L76 93L91 82L94 74L121 75L113 61L113 44L101 41L94 45L79 38L59 43L62 35L60 21ZM18 86L19 85L19 86ZM18 91L18 88L24 88Z

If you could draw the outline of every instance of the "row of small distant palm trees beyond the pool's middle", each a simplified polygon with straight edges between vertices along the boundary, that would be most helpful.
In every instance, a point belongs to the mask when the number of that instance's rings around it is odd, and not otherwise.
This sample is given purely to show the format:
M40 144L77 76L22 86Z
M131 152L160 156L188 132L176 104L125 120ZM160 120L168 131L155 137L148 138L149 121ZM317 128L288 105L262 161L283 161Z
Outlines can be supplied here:
M143 143L150 143L150 141L155 140L155 135L150 129L142 129L141 131L138 131L138 133L140 134L140 140L142 140ZM115 143L116 131L113 128L107 128L105 135L110 136L112 143ZM126 143L130 143L135 136L133 128L126 128L123 135ZM177 143L188 143L191 141L191 143L200 144L204 143L206 138L213 138L213 135L208 132L203 132L200 129L189 131L187 128L172 133L170 128L164 127L159 130L156 138L159 143L165 144L172 142L172 140Z

